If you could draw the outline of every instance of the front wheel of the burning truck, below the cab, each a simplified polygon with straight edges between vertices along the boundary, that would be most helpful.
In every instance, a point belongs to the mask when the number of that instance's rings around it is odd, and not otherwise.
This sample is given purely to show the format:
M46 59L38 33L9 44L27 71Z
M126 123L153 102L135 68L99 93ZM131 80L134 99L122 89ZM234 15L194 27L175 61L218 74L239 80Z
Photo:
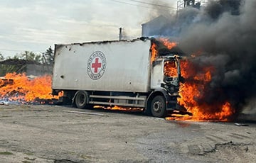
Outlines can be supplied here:
M164 117L167 115L166 102L164 96L155 96L151 102L151 113L154 117Z

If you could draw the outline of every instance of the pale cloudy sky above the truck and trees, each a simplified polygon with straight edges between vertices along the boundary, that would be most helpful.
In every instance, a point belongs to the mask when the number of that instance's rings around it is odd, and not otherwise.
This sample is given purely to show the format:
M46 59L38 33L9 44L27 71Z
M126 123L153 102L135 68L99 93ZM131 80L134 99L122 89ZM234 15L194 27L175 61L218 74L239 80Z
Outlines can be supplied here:
M1 0L0 53L39 54L57 43L117 40L119 28L137 38L142 23L163 10L175 12L176 0Z

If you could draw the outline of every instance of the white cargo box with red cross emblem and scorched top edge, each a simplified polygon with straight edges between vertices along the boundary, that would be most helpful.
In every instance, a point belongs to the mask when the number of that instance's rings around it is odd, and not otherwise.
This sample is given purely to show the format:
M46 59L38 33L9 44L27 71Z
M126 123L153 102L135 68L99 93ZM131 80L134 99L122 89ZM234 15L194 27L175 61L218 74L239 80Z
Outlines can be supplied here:
M148 92L151 40L55 45L53 89Z

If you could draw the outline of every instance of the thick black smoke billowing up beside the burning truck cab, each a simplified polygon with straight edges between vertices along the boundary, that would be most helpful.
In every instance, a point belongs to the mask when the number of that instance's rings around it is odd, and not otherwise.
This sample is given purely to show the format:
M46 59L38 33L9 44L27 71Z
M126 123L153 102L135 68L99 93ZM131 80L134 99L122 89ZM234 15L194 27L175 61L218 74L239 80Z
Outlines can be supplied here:
M198 73L215 67L203 99L215 104L230 101L236 113L253 106L256 98L256 1L210 1L200 10L188 7L179 11L175 23L166 23L161 35L176 37L191 58Z

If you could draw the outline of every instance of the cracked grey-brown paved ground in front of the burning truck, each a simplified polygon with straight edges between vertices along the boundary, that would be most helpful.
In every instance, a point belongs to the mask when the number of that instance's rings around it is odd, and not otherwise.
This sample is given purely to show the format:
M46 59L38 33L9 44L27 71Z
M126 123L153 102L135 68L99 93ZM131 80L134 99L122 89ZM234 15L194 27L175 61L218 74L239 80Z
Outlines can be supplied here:
M0 105L0 162L255 162L256 124L242 125Z

